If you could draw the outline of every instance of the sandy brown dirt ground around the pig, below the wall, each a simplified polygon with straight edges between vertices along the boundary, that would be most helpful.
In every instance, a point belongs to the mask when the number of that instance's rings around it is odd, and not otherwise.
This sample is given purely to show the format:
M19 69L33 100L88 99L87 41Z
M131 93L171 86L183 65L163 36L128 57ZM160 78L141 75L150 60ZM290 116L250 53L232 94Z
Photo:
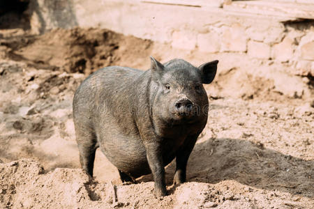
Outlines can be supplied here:
M170 164L170 195L156 199L151 175L122 185L99 151L89 178L80 169L73 93L107 65L148 69L149 55L205 60L107 30L0 30L0 208L314 208L314 104L299 94L311 81L298 78L301 90L286 94L270 78L243 76L247 63L232 54L218 57L216 82L206 86L209 120L187 183L172 185Z

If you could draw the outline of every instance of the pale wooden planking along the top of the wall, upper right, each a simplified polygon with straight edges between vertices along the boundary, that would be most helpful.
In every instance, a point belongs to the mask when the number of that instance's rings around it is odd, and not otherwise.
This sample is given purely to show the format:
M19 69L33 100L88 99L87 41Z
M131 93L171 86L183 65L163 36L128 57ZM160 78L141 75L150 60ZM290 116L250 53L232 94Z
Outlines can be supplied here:
M306 3L296 3L296 2ZM231 15L248 17L265 17L279 21L289 20L314 20L314 0L255 0L255 1L232 1L225 3L217 0L143 0L142 3L156 3L169 6L189 6L210 10L212 12L229 13Z

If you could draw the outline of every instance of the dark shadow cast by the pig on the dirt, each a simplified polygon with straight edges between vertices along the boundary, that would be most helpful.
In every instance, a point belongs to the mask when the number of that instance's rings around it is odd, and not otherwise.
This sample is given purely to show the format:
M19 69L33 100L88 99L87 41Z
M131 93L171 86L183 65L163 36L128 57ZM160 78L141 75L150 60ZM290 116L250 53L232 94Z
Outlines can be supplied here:
M196 144L190 155L187 181L237 182L271 191L314 197L314 162L283 155L242 139L209 139ZM172 184L175 162L166 168L167 185ZM139 179L152 180L151 175ZM306 191L306 192L304 192Z

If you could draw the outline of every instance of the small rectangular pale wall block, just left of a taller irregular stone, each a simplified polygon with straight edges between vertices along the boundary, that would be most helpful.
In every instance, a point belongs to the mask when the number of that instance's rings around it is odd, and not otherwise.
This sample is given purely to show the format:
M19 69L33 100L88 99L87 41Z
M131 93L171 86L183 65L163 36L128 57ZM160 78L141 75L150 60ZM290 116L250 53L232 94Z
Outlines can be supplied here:
M257 59L269 59L271 48L264 42L248 42L248 55Z

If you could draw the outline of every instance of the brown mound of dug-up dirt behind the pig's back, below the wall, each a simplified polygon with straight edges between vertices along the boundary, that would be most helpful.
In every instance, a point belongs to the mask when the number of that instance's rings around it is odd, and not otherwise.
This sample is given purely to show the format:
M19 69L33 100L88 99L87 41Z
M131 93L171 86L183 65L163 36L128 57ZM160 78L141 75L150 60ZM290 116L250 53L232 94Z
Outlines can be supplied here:
M26 61L36 68L89 74L107 65L142 66L150 40L105 29L54 29L41 36L8 36L7 59ZM132 54L132 56L130 56Z

